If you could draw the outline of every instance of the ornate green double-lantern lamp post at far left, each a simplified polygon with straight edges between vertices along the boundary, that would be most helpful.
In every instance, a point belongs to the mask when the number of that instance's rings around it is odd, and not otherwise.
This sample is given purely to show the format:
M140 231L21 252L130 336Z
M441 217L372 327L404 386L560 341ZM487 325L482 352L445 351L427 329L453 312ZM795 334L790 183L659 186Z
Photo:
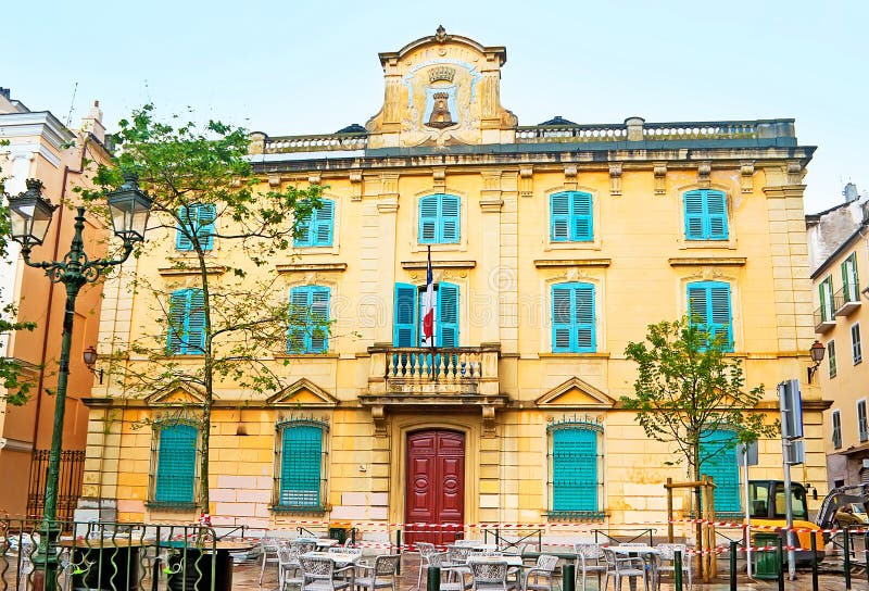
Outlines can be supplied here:
M24 262L28 266L43 269L52 284L60 282L66 288L58 390L54 399L54 425L51 432L51 450L46 480L46 508L41 526L48 540L40 543L39 548L39 553L42 554L40 562L45 564L43 589L47 591L53 591L56 586L58 556L54 552L54 543L60 535L60 527L56 523L58 478L63 444L63 415L66 408L66 383L70 377L75 300L85 285L99 279L110 267L122 264L129 257L134 244L144 240L151 199L139 190L136 175L125 174L121 188L106 194L115 236L124 241L124 252L117 259L91 260L88 257L81 238L85 229L85 208L78 208L75 216L75 234L70 252L63 260L39 263L30 261L30 251L33 247L40 246L45 241L49 224L51 224L51 216L58 205L53 205L51 201L42 197L42 183L34 178L27 179L26 191L15 197L8 196L12 239L21 244Z

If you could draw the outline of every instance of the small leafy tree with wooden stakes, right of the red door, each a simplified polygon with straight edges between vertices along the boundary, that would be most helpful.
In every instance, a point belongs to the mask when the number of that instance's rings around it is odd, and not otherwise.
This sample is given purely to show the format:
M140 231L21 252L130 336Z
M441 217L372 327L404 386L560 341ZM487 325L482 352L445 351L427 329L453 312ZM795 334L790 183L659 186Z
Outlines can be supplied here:
M742 361L726 354L728 344L727 331L713 334L683 317L650 325L645 340L629 342L625 350L639 367L634 395L621 402L637 412L647 437L676 444L673 463L684 463L694 481L700 481L704 462L778 430L754 410L764 387L746 390ZM718 429L732 431L733 438L714 440ZM694 503L701 506L700 488L694 489ZM697 524L698 542L700 529Z

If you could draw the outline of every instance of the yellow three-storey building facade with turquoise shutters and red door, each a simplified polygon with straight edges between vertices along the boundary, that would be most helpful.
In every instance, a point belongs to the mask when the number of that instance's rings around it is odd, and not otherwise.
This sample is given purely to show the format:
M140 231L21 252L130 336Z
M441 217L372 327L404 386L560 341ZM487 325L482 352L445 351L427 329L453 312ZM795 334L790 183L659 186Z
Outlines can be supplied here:
M324 187L310 230L256 273L327 310L328 338L300 334L263 360L280 391L217 386L209 507L156 499L168 440L155 419L200 394L133 397L113 372L89 401L85 494L128 520L207 508L221 525L348 523L366 539L419 521L665 523L664 483L685 473L619 402L635 378L625 348L696 302L729 327L778 417L776 386L805 375L814 337L802 185L814 149L792 120L519 126L501 103L506 50L442 29L380 61L385 102L364 128L252 136L264 189ZM122 365L158 330L131 274L185 286L165 271L175 237L153 234L163 246L104 290L101 353ZM215 267L234 255L213 246ZM794 479L821 488L824 402L814 386L803 395ZM760 452L752 477L781 478L781 442ZM735 466L720 470L735 491Z

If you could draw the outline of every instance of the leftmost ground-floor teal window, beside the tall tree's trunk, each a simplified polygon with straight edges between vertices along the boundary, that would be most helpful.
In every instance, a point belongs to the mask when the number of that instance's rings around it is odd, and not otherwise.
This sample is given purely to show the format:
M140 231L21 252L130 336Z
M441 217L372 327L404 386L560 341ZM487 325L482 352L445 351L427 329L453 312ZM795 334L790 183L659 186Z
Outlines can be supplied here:
M191 508L197 499L199 429L192 423L155 423L149 505Z

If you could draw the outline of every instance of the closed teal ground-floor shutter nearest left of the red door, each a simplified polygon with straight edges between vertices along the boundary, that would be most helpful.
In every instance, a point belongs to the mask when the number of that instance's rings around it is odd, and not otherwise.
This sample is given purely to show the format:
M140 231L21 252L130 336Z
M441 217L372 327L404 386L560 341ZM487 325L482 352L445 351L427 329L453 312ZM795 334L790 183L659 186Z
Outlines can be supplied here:
M285 427L280 451L280 506L319 507L323 429L307 425Z

